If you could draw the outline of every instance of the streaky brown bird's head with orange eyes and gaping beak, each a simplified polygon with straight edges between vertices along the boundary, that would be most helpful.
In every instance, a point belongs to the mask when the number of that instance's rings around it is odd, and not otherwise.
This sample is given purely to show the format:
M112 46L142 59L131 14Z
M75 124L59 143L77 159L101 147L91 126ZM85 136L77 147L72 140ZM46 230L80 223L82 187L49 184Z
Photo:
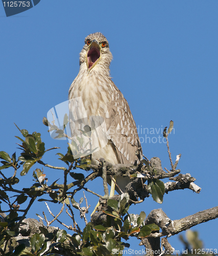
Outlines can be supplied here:
M88 72L94 67L109 70L111 60L108 40L102 33L90 34L85 38L85 45L80 53L80 65L86 63Z

